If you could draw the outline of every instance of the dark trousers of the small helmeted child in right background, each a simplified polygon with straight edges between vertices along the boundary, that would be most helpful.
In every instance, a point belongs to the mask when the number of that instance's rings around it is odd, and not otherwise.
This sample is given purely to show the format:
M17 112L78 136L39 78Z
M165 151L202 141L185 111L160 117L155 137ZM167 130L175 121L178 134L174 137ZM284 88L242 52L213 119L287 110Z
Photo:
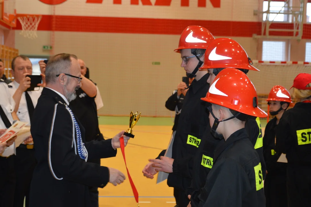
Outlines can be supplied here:
M268 173L264 192L266 207L287 207L286 172Z

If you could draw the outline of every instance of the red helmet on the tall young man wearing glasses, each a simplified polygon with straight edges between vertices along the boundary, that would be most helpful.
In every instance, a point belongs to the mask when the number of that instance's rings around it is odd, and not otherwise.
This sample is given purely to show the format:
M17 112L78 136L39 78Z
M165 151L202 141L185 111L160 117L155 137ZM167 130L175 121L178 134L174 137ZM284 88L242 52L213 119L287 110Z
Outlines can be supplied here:
M188 26L180 35L179 45L174 52L180 52L181 49L206 49L207 45L215 37L202 26Z

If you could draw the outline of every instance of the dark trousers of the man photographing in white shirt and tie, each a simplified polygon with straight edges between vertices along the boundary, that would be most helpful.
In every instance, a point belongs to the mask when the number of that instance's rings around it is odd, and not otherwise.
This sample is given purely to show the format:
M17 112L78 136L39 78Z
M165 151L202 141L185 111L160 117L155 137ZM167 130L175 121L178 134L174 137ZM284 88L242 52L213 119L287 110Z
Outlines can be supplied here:
M25 144L16 148L15 171L16 186L14 195L14 207L23 207L26 196L25 207L29 206L29 191L32 173L35 169L35 150L27 149Z

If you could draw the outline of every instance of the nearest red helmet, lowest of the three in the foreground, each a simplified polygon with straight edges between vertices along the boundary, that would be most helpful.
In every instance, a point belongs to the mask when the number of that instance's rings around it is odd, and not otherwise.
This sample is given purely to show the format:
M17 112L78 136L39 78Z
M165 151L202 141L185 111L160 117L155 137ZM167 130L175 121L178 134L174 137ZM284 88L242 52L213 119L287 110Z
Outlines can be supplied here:
M258 107L258 97L247 75L235 68L225 68L218 73L206 97L201 98L216 105L255 117L267 117Z

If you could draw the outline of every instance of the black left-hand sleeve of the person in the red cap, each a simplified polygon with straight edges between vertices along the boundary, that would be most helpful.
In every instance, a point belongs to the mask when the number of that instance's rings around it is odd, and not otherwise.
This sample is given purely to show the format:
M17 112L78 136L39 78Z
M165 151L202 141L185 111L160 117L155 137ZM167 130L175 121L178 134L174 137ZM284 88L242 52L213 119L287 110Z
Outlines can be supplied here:
M276 126L276 152L284 154L295 144L290 134L290 122L285 113L286 111L282 115L279 124Z

